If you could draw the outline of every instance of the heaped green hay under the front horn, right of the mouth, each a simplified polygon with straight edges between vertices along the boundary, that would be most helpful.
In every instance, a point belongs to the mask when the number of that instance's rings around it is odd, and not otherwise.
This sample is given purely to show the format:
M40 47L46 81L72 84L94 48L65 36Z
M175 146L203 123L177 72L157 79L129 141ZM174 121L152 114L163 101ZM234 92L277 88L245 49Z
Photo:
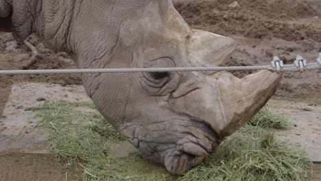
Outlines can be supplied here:
M278 143L274 133L246 125L183 180L310 180L305 151Z

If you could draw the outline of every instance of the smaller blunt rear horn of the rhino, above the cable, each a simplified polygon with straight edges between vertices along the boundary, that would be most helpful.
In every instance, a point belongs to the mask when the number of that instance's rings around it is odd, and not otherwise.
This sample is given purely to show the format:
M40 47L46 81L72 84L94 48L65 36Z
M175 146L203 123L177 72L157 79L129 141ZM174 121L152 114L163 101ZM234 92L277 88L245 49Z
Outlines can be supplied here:
M193 66L215 67L225 64L235 48L236 43L232 38L192 29L187 53Z

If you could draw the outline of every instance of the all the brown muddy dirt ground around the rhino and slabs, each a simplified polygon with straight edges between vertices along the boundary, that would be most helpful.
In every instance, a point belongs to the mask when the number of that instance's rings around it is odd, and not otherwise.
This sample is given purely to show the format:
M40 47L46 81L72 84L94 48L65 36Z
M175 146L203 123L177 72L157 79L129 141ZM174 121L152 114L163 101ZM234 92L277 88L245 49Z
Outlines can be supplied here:
M304 56L309 62L316 62L318 52L321 52L321 0L239 0L241 8L231 10L228 5L232 2L178 0L176 8L192 28L237 40L239 47L228 65L266 65L270 64L273 56L280 56L286 64L292 64L297 54ZM29 42L40 51L40 58L29 69L75 68L66 53L46 49L34 37ZM22 69L28 58L29 51L25 45L17 44L11 34L0 33L0 69ZM320 73L320 70L286 73L276 97L302 102L314 99L316 105L321 106ZM239 77L244 74L235 72ZM62 86L81 84L78 75L0 75L0 82L0 117L14 83L50 82ZM32 174L39 180L54 174L59 177L52 180L64 180L67 172L69 176L69 173L79 173L76 167L57 164L56 159L50 155L3 153L0 154L0 162L0 180L3 179L3 168L8 168L6 165L14 167L21 174L31 174L29 180L37 180L32 178ZM30 165L34 162L36 165ZM36 167L38 172L34 173L32 167ZM320 165L316 165L315 171L314 180L321 180ZM11 180L14 179L16 178Z

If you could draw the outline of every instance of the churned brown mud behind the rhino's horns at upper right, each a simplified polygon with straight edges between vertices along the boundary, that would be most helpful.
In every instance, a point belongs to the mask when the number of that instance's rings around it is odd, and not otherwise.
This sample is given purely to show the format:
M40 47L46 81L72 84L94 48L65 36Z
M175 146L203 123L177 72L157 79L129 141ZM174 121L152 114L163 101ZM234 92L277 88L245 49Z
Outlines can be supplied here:
M273 56L293 64L297 54L316 62L321 52L320 0L240 0L237 10L228 8L231 2L178 0L176 8L192 28L237 40L228 65L268 65ZM320 73L286 73L278 95L321 96Z

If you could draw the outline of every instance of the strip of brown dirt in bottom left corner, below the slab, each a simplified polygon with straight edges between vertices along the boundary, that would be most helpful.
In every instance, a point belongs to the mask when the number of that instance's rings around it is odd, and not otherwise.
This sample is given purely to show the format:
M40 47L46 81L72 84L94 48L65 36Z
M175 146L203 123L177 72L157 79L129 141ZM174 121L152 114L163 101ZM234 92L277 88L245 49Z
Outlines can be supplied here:
M66 166L51 154L0 153L0 181L81 180L78 165Z

